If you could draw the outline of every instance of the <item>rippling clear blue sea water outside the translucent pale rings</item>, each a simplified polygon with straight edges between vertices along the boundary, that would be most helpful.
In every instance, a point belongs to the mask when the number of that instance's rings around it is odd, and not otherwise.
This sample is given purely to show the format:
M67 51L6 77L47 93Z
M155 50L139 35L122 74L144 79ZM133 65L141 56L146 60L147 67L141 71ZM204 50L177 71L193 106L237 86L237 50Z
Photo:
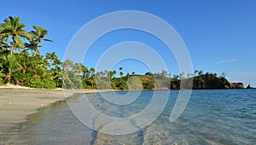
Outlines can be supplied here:
M158 96L166 90L158 91ZM119 95L137 91L116 92ZM115 105L101 94L77 95L72 102L86 97L108 116L119 118L140 113L148 106L153 90L143 90L131 104ZM171 90L164 110L153 123L127 135L108 135L93 131L77 119L67 105L58 102L39 110L15 131L7 134L8 143L20 144L255 144L256 90L193 90L182 115L169 122L178 90ZM111 95L106 92L105 96ZM164 105L164 104L159 104ZM92 121L94 125L99 120ZM136 123L135 123L136 124ZM104 126L102 126L104 128Z

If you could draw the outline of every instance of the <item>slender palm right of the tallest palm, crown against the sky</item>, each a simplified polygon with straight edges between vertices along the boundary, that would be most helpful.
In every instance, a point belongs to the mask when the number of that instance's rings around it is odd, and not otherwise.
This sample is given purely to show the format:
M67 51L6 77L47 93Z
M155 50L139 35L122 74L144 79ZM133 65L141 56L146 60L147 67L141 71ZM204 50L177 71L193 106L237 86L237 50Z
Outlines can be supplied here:
M32 39L36 40L38 46L35 50L35 55L38 54L38 48L40 47L40 44L42 42L42 40L44 41L49 41L49 42L53 42L52 40L49 40L47 38L44 38L45 35L48 34L48 31L46 29L43 29L41 26L33 26L34 30L32 30L31 32L29 32L32 36Z

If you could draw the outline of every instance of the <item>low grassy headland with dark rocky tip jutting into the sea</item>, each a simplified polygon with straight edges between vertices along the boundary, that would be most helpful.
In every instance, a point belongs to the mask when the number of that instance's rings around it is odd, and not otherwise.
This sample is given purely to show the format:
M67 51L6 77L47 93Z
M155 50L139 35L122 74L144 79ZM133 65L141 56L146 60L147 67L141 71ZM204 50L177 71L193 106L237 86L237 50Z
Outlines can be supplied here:
M160 76L137 75L142 80L145 90L207 90L207 89L244 89L242 83L230 83L227 78L218 77L216 73L206 73L192 78L166 78ZM170 80L171 85L170 85ZM191 81L193 84L191 84ZM249 86L250 87L250 86Z

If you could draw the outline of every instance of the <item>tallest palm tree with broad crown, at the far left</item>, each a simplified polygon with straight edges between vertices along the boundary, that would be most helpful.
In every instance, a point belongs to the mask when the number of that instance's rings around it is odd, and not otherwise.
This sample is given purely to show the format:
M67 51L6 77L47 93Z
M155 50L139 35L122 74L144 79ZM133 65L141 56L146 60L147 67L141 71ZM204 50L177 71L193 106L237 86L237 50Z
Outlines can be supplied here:
M10 49L10 55L13 54L14 49L17 49L15 46L23 47L24 44L20 40L20 38L28 37L25 30L23 30L26 25L24 23L20 23L20 17L12 17L6 18L3 20L4 23L0 24L0 35L2 38L7 40L7 44L9 45L10 37L12 38L12 47ZM9 48L9 46L7 46Z

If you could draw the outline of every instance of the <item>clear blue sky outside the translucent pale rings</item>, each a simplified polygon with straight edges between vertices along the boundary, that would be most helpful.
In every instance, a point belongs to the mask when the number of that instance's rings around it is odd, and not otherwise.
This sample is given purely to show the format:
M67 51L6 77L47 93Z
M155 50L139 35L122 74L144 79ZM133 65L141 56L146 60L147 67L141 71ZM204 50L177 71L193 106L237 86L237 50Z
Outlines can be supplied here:
M9 15L20 16L27 31L31 31L33 25L46 28L49 31L46 38L54 43L44 42L40 52L55 51L60 59L64 58L76 32L102 14L121 10L154 14L171 25L183 39L194 70L226 73L230 82L256 87L254 0L14 0L12 4L3 1L1 5L1 20ZM84 65L96 67L106 50L127 41L147 44L165 61L168 72L180 73L174 55L163 42L147 32L127 29L99 38L84 56ZM146 73L150 71L147 65L143 61L126 59L116 62L113 69L123 67L124 73Z

